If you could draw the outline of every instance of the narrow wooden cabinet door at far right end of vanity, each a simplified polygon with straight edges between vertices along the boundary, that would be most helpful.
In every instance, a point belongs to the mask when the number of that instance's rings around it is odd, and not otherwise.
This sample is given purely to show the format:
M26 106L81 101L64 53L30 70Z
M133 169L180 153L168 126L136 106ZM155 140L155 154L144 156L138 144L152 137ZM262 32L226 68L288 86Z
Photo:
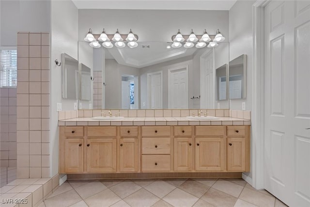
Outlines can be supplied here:
M227 170L246 171L245 138L227 138Z

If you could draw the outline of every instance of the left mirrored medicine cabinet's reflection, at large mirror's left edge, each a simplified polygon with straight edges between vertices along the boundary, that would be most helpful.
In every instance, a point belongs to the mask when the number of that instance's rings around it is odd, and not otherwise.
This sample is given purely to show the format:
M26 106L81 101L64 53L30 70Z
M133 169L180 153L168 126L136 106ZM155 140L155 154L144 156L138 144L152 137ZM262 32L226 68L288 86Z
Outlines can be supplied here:
M81 100L91 100L92 87L91 87L91 68L87 67L85 64L80 64L80 92Z

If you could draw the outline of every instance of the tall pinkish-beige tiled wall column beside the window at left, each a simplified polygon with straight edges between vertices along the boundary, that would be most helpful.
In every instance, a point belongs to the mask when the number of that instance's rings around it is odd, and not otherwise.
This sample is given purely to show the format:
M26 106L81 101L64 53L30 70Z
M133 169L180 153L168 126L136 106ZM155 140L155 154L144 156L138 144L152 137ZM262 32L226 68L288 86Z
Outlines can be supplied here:
M49 33L17 33L17 178L50 177Z

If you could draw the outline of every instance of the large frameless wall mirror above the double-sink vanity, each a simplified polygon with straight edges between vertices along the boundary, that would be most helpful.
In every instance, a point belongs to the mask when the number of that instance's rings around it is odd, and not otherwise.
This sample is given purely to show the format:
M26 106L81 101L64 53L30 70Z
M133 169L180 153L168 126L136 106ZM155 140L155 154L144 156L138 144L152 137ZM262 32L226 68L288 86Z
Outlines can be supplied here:
M87 42L78 43L79 63L92 68L93 109L229 108L227 94L218 100L216 96L216 70L229 64L229 43L217 48L138 44L137 48L91 48ZM207 82L204 91L201 81Z

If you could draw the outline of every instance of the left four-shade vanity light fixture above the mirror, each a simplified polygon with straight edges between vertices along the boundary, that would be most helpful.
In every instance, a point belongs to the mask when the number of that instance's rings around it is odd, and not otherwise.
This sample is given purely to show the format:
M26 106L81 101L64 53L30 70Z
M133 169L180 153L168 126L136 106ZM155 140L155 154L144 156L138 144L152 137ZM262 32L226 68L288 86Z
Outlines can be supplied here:
M95 37L98 37L98 40L96 40ZM125 38L125 41L124 41ZM100 36L99 34L93 34L92 29L89 29L89 32L86 34L86 37L84 40L86 42L89 42L90 46L92 48L100 48L101 45L99 42L102 42L102 46L105 48L113 48L113 46L117 48L124 48L126 46L125 42L127 42L127 46L129 48L137 48L138 47L138 35L134 34L131 29L130 32L126 34L120 34L118 29L114 34L107 34L106 30L103 29ZM111 39L111 41L110 41Z

